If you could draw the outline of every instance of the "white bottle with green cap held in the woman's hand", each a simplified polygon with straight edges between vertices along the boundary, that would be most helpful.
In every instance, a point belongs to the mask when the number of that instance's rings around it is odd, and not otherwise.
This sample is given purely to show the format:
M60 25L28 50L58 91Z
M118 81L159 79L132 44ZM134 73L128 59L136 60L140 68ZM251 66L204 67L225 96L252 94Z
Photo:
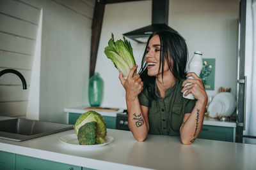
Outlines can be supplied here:
M202 52L198 52L195 51L194 52L194 56L192 57L192 59L189 62L189 66L188 66L188 73L190 72L195 72L197 76L200 75L202 68L203 68L203 59L202 59ZM189 78L192 78L192 76L189 76ZM191 85L191 83L186 83L185 87L187 85ZM188 90L186 90L185 92L183 92L183 97L186 99L191 99L194 100L195 97L193 96L192 93L188 94L187 96L184 96L184 94L187 92Z

